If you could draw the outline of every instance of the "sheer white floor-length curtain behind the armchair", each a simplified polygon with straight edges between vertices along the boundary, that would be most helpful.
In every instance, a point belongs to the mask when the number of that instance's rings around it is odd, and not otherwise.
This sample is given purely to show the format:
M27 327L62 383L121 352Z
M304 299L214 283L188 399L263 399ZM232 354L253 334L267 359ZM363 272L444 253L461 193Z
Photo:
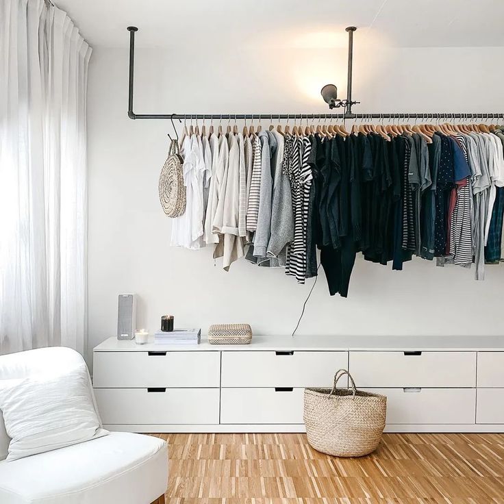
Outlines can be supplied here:
M0 353L85 350L90 54L62 10L0 1Z

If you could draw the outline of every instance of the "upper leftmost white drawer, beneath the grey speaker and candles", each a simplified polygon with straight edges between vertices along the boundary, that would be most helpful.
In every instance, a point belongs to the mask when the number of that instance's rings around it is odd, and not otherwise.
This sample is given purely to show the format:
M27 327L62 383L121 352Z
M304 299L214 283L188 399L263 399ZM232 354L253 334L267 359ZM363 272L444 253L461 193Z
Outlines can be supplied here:
M97 388L218 387L220 353L95 352L93 383Z

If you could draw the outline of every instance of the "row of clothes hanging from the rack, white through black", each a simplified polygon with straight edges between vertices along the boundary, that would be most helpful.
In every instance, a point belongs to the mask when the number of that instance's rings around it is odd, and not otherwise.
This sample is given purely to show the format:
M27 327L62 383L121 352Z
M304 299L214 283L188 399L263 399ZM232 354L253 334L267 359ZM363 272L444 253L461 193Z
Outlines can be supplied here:
M475 264L478 280L504 255L500 128L228 128L186 134L181 155L187 208L171 243L212 244L225 270L245 256L304 283L320 253L329 294L346 297L359 252L393 270L414 255Z

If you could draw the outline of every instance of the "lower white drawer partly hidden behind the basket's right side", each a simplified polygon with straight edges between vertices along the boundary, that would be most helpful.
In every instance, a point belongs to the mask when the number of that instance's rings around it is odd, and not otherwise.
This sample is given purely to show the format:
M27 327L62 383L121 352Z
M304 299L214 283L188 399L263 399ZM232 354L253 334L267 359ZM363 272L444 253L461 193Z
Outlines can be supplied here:
M474 424L474 388L368 388L387 396L388 424Z

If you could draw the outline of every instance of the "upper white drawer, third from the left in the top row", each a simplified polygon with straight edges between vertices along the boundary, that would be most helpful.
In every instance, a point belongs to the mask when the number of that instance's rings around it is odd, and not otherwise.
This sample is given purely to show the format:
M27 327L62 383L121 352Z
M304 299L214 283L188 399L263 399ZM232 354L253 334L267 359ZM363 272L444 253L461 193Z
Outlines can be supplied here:
M357 387L475 387L476 352L350 352Z

